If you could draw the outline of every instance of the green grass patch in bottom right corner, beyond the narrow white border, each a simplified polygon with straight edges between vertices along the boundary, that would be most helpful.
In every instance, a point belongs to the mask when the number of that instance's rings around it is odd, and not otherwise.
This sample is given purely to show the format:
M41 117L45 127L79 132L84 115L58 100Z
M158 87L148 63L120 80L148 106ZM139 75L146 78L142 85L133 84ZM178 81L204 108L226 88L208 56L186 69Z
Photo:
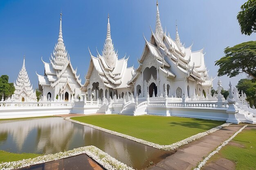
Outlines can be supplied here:
M226 145L208 162L215 161L222 157L236 163L236 170L256 170L256 129L244 129L232 142L241 144L244 148Z

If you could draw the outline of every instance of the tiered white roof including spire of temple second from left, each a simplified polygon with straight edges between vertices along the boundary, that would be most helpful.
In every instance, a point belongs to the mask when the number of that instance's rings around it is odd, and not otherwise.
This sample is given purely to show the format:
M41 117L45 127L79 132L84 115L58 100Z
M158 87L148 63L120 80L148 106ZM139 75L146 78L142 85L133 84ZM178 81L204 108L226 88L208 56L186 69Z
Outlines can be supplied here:
M56 84L58 84L61 79L61 75L67 70L71 69L71 72L74 74L74 77L76 78L76 83L79 84L79 86L82 86L81 79L79 79L80 75L76 75L76 70L74 70L71 62L70 62L70 55L67 53L66 47L63 42L63 36L62 36L62 14L60 19L60 30L58 35L58 42L54 46L53 54L51 54L50 63L44 62L41 58L44 66L45 66L45 75L39 75L38 80L40 85L47 85L54 87ZM68 78L66 80L66 84L69 82Z

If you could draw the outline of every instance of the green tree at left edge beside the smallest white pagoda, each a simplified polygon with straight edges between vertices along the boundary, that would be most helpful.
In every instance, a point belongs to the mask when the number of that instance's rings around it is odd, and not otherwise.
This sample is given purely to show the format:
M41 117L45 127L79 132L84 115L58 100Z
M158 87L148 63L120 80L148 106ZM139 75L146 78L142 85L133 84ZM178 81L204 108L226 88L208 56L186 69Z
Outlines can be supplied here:
M4 99L11 96L15 91L13 83L9 83L8 75L1 75L0 77L0 96L4 94ZM1 100L1 99L0 99Z

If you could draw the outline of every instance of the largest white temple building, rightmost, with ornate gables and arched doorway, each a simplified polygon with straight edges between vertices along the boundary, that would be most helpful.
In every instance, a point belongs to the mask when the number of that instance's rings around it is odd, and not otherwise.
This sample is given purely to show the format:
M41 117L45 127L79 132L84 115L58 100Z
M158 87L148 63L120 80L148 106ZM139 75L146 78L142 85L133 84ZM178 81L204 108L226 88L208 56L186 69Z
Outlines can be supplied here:
M146 97L192 99L209 96L212 80L208 77L204 63L203 49L192 51L192 45L185 47L180 42L176 25L176 38L164 33L158 10L155 32L151 29L150 40L145 39L144 51L139 59L139 67L128 86L134 86L135 95ZM167 93L165 93L167 92Z

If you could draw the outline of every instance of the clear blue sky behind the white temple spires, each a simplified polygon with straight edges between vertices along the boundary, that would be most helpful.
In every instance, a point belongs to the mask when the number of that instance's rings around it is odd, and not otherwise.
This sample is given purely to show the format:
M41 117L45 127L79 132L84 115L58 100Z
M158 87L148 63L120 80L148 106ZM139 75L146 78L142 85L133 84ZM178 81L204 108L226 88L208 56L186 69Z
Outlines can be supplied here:
M245 0L159 0L162 26L175 39L175 20L182 43L193 51L204 48L210 77L217 75L214 61L224 56L227 46L256 40L256 34L241 35L236 15ZM82 83L88 70L90 55L100 52L106 38L108 13L111 36L119 58L126 54L128 66L138 66L144 38L150 39L150 26L155 30L156 0L1 0L0 1L0 75L9 75L14 82L22 67L23 55L34 88L37 73L43 75L45 62L58 40L60 12L63 13L63 40L70 53L72 66L77 67ZM237 84L245 77L221 77L223 87L229 80ZM217 79L217 78L216 78ZM216 88L217 81L213 82Z

